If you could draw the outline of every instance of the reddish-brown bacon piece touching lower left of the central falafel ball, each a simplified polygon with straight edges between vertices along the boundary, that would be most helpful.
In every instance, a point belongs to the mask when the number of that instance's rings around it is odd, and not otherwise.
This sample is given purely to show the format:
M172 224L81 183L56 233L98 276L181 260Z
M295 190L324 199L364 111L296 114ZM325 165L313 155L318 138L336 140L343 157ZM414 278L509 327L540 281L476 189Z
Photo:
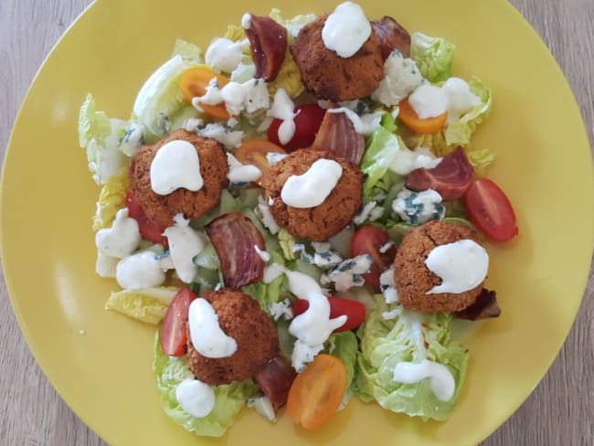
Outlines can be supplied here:
M266 250L266 245L249 218L241 212L231 212L212 220L206 229L217 251L226 287L239 289L262 280L264 261L254 246Z

